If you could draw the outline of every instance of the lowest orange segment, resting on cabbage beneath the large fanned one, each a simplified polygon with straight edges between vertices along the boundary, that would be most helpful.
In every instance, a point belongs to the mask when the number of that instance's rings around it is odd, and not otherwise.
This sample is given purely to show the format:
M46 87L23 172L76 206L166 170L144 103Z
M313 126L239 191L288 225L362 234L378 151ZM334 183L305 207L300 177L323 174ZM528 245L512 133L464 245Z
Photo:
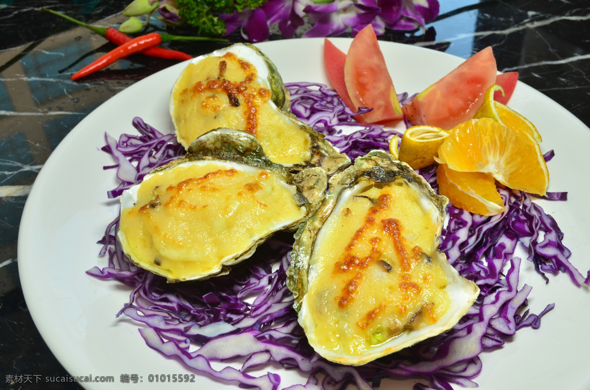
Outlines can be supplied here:
M457 172L440 164L437 168L438 192L455 207L470 213L492 216L504 211L496 180L487 173Z

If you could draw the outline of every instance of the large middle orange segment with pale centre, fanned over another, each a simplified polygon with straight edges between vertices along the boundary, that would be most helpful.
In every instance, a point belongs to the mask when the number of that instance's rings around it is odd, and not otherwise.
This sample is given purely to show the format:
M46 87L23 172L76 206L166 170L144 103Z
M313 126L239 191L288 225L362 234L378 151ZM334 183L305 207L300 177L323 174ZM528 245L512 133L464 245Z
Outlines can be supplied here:
M457 125L438 149L437 161L461 172L490 173L511 189L545 195L549 171L539 144L491 118Z

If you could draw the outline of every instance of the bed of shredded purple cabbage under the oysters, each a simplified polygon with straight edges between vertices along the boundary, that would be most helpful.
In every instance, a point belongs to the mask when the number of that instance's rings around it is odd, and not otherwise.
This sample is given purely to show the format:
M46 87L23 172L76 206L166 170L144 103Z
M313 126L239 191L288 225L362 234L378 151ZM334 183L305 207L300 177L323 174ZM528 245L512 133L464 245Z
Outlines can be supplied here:
M326 134L350 158L373 149L388 149L395 134L379 126L359 127L335 91L320 84L289 84L292 110L302 121ZM121 184L109 192L119 196L152 168L183 154L173 136L133 120L140 135L122 135L119 141L106 136L103 148L113 155ZM350 132L350 130L356 130ZM350 134L348 134L350 133ZM436 188L436 167L420 171ZM503 345L507 336L530 326L537 329L550 303L538 315L526 310L531 287L518 289L517 246L526 247L527 261L545 273L565 272L575 285L590 285L569 263L570 251L563 246L563 233L555 220L530 197L519 191L500 190L506 211L483 217L448 206L449 221L441 235L440 249L449 262L480 287L481 295L453 329L404 351L359 367L338 365L321 358L310 348L292 308L293 296L286 287L293 236L278 234L260 246L247 262L234 266L230 275L201 282L168 284L129 262L117 242L117 218L106 228L100 255L109 264L87 273L101 279L117 279L133 287L123 314L144 323L139 329L145 342L165 356L174 356L187 368L212 378L259 389L277 389L281 378L272 374L273 362L297 368L309 375L305 384L290 389L359 389L379 386L383 378L411 376L428 385L415 390L448 390L451 384L477 386L472 381L481 371L478 355ZM550 198L550 197L549 197ZM562 199L556 196L555 199ZM542 239L540 233L543 233ZM191 352L193 344L201 345ZM220 371L211 362L232 362ZM234 368L235 364L241 368ZM267 375L250 374L268 368ZM322 379L320 379L322 378Z

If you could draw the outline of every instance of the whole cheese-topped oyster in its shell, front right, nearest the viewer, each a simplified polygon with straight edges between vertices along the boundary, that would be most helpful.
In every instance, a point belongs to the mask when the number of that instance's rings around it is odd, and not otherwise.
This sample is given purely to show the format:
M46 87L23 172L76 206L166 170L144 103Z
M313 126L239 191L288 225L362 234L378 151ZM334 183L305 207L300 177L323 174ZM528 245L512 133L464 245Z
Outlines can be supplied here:
M362 365L450 329L479 289L438 250L448 200L382 151L329 181L296 233L287 286L310 345Z

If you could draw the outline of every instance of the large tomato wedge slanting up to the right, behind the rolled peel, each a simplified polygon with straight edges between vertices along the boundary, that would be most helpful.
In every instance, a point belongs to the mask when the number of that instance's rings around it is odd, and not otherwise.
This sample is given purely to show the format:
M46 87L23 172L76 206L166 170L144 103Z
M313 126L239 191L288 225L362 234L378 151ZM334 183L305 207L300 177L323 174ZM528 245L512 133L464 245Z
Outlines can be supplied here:
M496 58L487 47L412 98L402 107L404 115L413 124L449 130L473 118L496 74Z

